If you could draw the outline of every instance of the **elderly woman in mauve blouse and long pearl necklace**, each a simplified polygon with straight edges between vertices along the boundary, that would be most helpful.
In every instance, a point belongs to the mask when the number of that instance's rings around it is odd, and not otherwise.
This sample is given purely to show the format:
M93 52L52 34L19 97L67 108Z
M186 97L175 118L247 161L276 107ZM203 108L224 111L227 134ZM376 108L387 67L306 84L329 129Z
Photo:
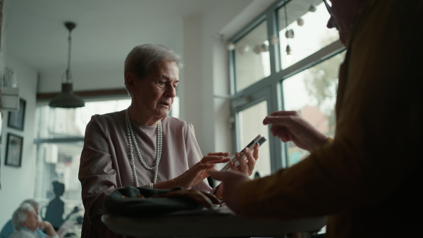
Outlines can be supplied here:
M93 115L85 131L79 179L85 217L82 237L118 237L101 222L103 200L119 187L211 191L208 170L227 162L228 153L202 157L194 127L168 117L179 83L180 56L166 46L135 46L125 60L129 108ZM247 151L250 152L250 151ZM251 175L256 159L247 153L233 170ZM212 192L219 194L222 186Z

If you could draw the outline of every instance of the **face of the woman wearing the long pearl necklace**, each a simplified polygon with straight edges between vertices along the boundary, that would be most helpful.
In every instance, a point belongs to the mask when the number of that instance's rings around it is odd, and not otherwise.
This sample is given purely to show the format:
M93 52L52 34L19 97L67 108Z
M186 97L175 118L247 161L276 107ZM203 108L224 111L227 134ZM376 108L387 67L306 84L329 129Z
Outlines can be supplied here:
M129 76L135 77L135 76ZM161 61L154 65L152 73L147 77L127 80L132 94L132 105L135 119L143 125L155 125L161 118L166 118L179 83L179 69L173 61Z

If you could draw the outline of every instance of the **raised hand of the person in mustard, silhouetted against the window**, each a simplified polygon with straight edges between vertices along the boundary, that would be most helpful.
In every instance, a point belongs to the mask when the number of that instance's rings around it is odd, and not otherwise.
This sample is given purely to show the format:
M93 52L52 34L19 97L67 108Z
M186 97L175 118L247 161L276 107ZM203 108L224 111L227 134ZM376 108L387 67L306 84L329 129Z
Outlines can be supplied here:
M274 137L279 137L283 142L294 142L296 146L307 151L321 146L329 138L302 118L297 111L276 111L266 116L263 124L271 124L270 131Z

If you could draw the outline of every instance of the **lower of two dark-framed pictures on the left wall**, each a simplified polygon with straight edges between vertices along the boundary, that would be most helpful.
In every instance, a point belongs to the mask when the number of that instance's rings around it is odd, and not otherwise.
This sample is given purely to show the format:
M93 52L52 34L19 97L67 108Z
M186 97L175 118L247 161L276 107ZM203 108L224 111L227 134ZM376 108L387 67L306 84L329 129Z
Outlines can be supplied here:
M22 147L23 137L8 133L6 144L6 161L4 164L20 167L20 163L22 162Z

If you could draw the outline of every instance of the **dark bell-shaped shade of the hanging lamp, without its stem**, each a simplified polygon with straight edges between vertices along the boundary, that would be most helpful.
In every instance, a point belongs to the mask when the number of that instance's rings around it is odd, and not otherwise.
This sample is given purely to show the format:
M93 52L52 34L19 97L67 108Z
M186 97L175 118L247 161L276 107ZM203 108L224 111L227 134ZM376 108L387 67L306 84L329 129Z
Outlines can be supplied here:
M49 106L54 108L80 108L85 106L84 100L73 93L73 84L62 83L62 92L51 99Z

